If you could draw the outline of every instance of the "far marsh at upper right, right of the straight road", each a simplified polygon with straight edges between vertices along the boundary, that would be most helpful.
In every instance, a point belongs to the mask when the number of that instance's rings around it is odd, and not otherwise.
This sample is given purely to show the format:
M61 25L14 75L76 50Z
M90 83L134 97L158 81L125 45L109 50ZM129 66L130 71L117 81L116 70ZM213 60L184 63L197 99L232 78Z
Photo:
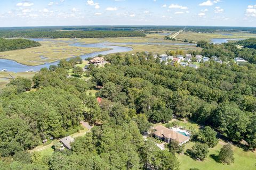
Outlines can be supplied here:
M220 33L181 32L176 38L188 39L189 41L190 40L191 41L206 40L210 42L211 39L213 38L228 38L228 39L256 38L256 34L245 33L245 32L220 32Z

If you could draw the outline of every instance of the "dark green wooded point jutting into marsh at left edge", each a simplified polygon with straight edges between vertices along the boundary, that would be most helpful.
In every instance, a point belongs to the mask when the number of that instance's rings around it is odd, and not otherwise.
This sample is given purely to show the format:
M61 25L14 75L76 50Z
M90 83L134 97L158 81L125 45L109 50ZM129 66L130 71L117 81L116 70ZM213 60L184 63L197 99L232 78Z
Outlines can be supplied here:
M40 43L28 39L4 39L0 38L0 52L5 52L15 49L25 49L41 46Z

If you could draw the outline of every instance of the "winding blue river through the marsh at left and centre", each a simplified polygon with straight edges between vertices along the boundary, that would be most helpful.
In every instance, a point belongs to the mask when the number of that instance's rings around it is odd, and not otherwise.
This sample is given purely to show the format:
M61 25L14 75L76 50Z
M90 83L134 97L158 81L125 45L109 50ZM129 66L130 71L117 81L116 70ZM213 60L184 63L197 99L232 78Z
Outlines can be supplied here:
M33 38L31 40L54 41L54 39L49 39L49 38L47 38L47 39ZM95 43L95 44L83 44L83 43L76 43L75 40L74 41L62 41L62 42L71 43L71 44L69 44L70 46L76 46L76 47L110 48L110 50L106 50L103 52L95 52L95 53L82 55L81 58L83 60L85 58L94 57L99 54L107 55L107 54L111 54L111 53L130 52L132 50L131 47L123 47L123 46L118 46L118 45L134 45L134 44L141 44L141 45L143 45L143 44L149 44L149 45L150 44L152 44L152 45L195 45L195 44L181 44L181 43L109 43L109 42ZM70 58L71 58L71 56L70 56ZM17 63L12 60L0 59L0 71L3 69L6 69L9 72L26 72L29 70L39 71L44 67L49 67L50 65L57 65L58 63L59 63L59 61L52 62L52 63L45 63L45 64L37 65L37 66L29 66L29 65Z

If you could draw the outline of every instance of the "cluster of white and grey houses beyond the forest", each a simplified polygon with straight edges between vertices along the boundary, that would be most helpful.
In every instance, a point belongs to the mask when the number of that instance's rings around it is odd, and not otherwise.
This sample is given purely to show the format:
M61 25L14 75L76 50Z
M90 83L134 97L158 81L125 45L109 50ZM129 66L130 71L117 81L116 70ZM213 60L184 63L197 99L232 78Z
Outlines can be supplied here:
M183 55L177 55L176 57L173 56L168 56L166 54L162 54L159 56L160 57L160 62L165 62L165 64L171 64L174 65L174 63L178 63L181 66L189 66L197 69L199 66L197 64L192 63L192 55L191 54L186 54L185 56ZM216 57L212 56L211 59L215 62L222 63L222 61ZM195 56L195 62L201 63L201 62L209 62L210 58L209 57L203 57L202 55L196 55Z

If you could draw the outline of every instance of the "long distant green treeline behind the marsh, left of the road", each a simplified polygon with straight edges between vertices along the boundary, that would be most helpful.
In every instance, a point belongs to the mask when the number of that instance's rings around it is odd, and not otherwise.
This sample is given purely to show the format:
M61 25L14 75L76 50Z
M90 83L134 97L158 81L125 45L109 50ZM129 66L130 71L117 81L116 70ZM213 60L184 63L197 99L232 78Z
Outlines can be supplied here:
M0 37L13 38L106 38L106 37L145 37L139 31L0 31Z

